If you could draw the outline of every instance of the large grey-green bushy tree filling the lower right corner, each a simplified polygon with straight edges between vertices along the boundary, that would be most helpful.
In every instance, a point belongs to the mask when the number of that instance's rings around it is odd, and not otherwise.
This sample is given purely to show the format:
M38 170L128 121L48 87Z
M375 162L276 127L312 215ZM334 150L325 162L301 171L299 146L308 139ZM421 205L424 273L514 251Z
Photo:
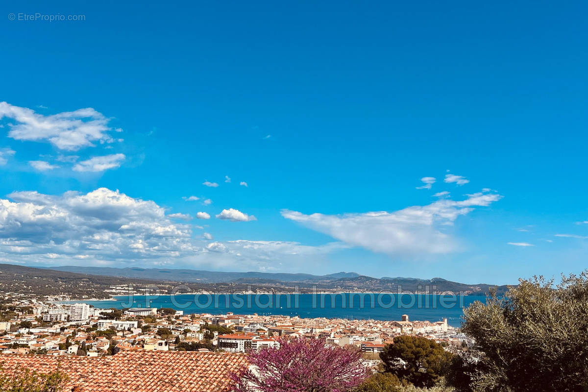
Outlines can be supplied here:
M476 341L473 391L580 392L588 387L588 272L520 280L464 311Z

